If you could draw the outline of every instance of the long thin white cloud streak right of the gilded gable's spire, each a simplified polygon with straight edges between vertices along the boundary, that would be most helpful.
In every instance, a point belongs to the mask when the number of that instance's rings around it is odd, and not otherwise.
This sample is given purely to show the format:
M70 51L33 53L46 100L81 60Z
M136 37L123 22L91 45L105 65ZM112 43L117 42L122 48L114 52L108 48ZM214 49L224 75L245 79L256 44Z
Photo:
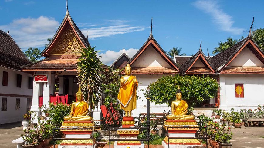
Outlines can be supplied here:
M143 31L145 28L142 26L130 26L130 25L117 25L107 26L100 28L83 28L81 29L84 36L87 36L87 30L89 31L89 39L107 37L110 35L125 34L135 31Z

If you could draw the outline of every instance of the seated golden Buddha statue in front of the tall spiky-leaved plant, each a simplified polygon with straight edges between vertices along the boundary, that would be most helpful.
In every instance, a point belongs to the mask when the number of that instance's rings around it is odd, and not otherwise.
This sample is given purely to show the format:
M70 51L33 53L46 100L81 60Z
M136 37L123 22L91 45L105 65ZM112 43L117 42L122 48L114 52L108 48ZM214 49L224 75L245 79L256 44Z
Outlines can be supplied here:
M64 117L64 121L91 121L93 118L86 116L89 105L83 101L83 92L79 87L76 93L77 101L73 102L69 116Z

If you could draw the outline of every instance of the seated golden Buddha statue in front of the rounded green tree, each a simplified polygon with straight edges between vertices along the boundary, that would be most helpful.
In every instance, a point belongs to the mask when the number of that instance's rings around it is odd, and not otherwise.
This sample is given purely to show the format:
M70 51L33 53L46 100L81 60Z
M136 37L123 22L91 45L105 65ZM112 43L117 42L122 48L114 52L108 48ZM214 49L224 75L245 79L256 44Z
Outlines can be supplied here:
M194 115L187 115L188 104L181 97L182 92L178 86L177 100L171 102L171 115L167 116L167 120L194 120Z

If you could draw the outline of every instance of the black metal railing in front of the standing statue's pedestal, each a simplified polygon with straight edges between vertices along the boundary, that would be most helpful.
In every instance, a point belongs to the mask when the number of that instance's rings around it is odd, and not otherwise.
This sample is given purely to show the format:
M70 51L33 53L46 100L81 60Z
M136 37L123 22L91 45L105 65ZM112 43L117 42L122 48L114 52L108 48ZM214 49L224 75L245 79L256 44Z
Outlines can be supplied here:
M149 148L149 140L150 140L150 137L149 137L149 134L147 134L147 138L145 139L111 139L111 131L113 130L119 130L119 129L122 129L122 130L131 130L131 129L139 129L139 130L144 130L146 129L147 132L150 132L150 129L149 127L135 127L135 128L121 128L121 127L110 127L109 128L109 148L111 147L111 141L147 141L147 147ZM143 143L144 144L144 143Z

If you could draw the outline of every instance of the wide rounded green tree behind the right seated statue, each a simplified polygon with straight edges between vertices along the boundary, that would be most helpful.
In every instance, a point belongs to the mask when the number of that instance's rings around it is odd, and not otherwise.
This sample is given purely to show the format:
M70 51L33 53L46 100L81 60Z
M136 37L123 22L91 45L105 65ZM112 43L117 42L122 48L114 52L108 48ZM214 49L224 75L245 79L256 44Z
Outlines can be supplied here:
M219 84L211 77L198 76L163 76L156 82L149 85L151 102L155 104L167 104L171 106L171 102L176 100L176 92L178 87L182 91L182 100L189 105L190 111L196 103L216 97ZM144 93L147 95L147 92Z

